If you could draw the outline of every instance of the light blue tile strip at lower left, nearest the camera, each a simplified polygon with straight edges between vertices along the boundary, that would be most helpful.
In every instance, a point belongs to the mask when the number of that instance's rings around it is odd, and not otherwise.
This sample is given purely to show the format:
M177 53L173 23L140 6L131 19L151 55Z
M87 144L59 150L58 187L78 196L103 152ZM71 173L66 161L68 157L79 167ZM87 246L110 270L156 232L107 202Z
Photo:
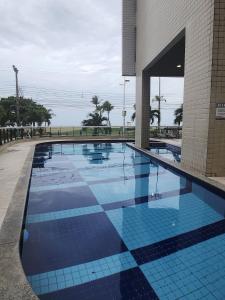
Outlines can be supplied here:
M37 289L40 291L46 288L47 293L50 293L65 287L77 286L115 273L120 273L136 266L137 264L132 255L129 252L123 252L82 265L57 270L53 276L52 272L29 276L28 280L34 290ZM58 271L61 271L62 274ZM55 283L57 283L57 286L55 286ZM39 292L39 294L43 293Z

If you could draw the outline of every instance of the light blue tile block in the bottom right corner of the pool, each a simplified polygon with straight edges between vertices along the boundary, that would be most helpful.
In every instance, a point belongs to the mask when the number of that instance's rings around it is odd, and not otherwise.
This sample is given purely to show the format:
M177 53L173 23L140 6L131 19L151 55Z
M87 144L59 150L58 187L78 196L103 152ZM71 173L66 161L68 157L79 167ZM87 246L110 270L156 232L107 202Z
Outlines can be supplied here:
M224 299L225 234L141 265L160 299L168 289L181 299Z

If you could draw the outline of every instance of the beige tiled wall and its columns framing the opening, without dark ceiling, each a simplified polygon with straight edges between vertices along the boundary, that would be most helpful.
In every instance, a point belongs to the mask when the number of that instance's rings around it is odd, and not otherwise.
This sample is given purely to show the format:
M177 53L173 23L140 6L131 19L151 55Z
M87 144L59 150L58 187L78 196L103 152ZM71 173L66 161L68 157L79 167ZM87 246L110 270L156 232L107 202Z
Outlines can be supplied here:
M215 120L215 103L225 101L224 6L224 0L137 0L136 144L144 147L148 138L142 71L185 28L182 164L210 176L225 176L225 121Z

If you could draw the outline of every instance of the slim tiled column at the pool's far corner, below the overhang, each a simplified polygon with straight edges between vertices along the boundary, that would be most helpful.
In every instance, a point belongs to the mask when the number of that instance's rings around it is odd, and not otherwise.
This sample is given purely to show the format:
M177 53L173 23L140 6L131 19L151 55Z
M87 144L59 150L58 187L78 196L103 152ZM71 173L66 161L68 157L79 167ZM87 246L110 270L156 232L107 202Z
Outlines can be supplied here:
M150 77L145 72L137 75L135 145L149 147Z

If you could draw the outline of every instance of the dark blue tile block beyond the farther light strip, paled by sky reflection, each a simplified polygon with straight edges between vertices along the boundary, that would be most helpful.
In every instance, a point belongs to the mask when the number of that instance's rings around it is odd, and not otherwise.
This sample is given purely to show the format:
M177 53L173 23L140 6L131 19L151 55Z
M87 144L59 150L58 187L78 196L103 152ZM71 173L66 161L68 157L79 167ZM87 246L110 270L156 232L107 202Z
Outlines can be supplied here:
M29 194L28 214L46 213L97 204L97 200L88 186L31 192Z

